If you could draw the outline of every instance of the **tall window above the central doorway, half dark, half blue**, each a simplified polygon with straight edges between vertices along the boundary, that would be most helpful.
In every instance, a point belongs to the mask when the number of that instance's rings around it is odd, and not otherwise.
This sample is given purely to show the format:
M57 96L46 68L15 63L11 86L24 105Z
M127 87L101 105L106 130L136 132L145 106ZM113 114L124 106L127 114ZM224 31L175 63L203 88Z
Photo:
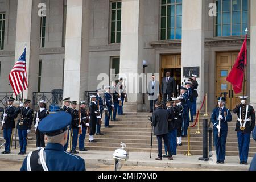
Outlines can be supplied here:
M161 1L161 40L181 39L182 0Z

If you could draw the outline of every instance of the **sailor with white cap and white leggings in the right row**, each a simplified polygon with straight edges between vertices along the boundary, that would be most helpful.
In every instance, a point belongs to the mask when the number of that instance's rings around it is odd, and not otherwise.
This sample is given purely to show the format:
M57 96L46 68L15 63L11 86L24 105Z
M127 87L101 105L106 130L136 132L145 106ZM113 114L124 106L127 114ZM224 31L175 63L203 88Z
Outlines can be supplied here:
M175 118L177 117L177 146L182 146L182 126L184 123L183 112L184 108L182 105L183 97L178 97L178 101L174 101Z

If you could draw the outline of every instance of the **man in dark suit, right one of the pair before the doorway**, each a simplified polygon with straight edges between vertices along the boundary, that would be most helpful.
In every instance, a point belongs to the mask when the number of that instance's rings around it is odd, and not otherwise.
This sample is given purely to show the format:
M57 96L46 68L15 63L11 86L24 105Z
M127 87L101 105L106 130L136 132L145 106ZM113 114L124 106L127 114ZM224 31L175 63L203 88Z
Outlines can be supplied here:
M171 99L172 96L175 97L175 80L171 77L170 72L166 72L166 77L162 80L162 90L161 93L163 94L163 102L164 107L166 106L166 100Z

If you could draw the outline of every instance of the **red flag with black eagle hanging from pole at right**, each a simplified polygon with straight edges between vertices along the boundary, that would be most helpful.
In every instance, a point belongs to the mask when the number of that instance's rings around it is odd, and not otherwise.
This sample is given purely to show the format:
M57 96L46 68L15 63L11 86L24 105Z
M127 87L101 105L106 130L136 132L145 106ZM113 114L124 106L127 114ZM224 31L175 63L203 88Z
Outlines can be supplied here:
M226 81L230 82L233 86L234 93L242 92L243 86L243 77L244 69L247 64L247 35L245 36L245 41L243 42L243 46L241 51L237 56L236 63L234 64L232 70L230 71Z

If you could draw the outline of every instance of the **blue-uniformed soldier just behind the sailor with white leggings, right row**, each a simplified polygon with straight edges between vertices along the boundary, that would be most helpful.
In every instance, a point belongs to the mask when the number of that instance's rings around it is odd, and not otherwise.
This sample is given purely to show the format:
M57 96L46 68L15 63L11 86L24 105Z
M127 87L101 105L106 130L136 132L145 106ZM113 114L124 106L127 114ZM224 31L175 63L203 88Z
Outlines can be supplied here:
M187 88L181 86L180 88L180 97L183 97L182 106L183 106L183 122L182 122L182 137L187 137L188 126L189 126L189 110L188 110L188 94Z

